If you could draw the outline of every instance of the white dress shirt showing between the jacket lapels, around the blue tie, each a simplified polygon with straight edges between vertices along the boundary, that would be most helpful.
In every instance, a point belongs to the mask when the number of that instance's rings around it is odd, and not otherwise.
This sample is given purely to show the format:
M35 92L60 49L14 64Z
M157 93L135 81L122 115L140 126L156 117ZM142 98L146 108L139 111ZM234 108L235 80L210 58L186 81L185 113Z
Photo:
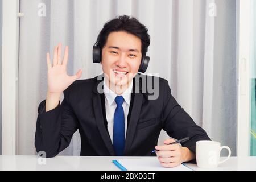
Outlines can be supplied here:
M105 80L103 83L103 90L105 95L105 107L106 107L106 119L108 122L108 131L110 135L111 142L113 143L113 128L114 128L114 113L117 104L115 103L115 97L118 95L114 93L109 87L106 85ZM126 137L126 130L127 130L127 116L129 113L130 101L131 101L131 90L133 89L133 81L129 85L129 88L125 90L121 94L125 101L123 101L122 107L125 114L125 137Z

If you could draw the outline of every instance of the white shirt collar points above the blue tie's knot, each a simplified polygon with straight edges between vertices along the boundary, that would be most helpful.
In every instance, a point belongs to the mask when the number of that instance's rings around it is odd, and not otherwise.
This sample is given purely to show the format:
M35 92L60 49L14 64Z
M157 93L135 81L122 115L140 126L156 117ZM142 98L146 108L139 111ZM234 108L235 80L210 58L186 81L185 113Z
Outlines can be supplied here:
M112 105L115 97L117 97L117 94L114 93L112 90L109 89L109 87L106 85L105 83L105 79L103 80L103 90L104 90L104 94L106 97L106 100L108 101L108 105ZM129 88L127 88L125 90L125 92L123 92L121 94L121 96L123 96L125 102L130 105L130 101L131 101L131 91L133 90L133 80L131 81Z

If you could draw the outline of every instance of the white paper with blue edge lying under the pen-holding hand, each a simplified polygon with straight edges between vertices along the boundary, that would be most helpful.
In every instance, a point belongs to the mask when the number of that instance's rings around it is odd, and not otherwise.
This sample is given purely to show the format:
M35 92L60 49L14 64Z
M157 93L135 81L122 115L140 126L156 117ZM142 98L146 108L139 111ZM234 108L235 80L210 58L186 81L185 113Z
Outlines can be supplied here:
M117 159L117 162L128 171L192 171L183 164L172 168L163 167L158 158Z

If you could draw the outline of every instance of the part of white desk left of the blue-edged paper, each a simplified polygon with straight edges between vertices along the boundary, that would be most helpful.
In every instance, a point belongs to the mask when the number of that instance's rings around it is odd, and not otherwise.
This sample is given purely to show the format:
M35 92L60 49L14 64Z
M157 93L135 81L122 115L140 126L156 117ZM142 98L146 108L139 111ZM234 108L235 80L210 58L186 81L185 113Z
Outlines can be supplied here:
M0 155L0 170L93 170L120 171L112 163L115 159L141 157L115 156L56 156L39 158L37 155ZM42 164L45 160L46 164Z

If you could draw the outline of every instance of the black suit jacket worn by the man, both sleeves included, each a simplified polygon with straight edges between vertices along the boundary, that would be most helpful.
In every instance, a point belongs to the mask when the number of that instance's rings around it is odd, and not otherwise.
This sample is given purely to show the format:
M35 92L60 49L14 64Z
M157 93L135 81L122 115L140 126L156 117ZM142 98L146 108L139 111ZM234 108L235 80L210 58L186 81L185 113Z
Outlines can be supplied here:
M155 78L138 74L135 77L138 76ZM63 102L47 112L46 100L40 103L35 133L37 152L45 151L46 157L56 156L69 146L73 133L79 129L80 155L115 155L107 128L104 93L97 91L101 81L94 77L73 82L64 90ZM142 85L142 81L136 85L134 80L133 90L139 86L139 93L131 94L124 156L155 156L151 151L161 129L176 139L190 137L181 144L193 152L198 140L210 140L172 97L167 80L159 78L156 100L148 99L152 94L148 90L144 93Z

